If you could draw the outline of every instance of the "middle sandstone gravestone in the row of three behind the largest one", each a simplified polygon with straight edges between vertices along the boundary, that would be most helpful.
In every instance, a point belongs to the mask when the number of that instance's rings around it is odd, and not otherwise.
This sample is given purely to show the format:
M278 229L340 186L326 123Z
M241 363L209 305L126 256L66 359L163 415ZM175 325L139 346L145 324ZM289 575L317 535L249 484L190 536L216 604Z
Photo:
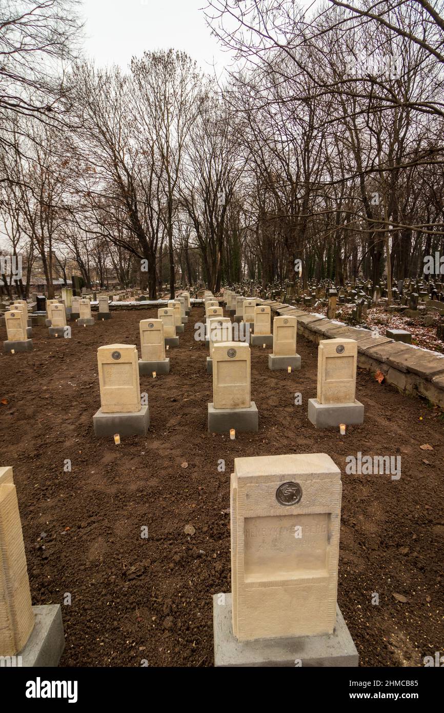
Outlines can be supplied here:
M258 430L257 408L251 400L250 359L249 345L243 342L221 342L213 347L213 401L208 404L210 433Z

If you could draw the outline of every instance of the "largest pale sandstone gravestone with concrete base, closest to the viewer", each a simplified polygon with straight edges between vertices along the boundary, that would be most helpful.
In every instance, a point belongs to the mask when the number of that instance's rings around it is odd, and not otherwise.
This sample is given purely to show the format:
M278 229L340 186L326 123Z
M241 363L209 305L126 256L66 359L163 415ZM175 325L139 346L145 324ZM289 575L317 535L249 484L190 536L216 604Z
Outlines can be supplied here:
M341 471L326 453L235 458L232 593L213 597L216 666L357 666L337 605Z

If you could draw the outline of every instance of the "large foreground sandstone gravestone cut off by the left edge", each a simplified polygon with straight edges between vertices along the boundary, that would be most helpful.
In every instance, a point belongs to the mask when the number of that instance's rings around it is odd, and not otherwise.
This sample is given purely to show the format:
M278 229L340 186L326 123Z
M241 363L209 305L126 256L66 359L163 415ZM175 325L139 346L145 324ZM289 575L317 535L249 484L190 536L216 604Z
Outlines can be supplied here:
M65 637L61 607L33 607L12 468L0 468L0 657L2 665L58 666ZM14 661L14 662L13 662Z

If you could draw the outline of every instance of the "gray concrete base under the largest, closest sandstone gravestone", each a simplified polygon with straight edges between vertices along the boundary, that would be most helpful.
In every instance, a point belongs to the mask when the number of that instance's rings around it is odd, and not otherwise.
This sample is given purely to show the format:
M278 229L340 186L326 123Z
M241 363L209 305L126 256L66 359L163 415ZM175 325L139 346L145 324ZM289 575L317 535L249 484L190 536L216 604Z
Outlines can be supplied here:
M339 606L333 634L237 641L232 627L232 595L213 595L216 667L356 667L359 657Z

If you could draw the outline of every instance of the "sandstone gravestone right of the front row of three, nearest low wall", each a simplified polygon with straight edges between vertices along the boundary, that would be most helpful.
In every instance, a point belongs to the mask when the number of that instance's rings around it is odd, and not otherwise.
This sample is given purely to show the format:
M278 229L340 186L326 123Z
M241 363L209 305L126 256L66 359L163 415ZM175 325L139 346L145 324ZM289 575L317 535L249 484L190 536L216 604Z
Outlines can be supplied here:
M316 429L362 424L364 407L355 399L358 343L354 339L319 342L316 399L309 399L309 421Z

